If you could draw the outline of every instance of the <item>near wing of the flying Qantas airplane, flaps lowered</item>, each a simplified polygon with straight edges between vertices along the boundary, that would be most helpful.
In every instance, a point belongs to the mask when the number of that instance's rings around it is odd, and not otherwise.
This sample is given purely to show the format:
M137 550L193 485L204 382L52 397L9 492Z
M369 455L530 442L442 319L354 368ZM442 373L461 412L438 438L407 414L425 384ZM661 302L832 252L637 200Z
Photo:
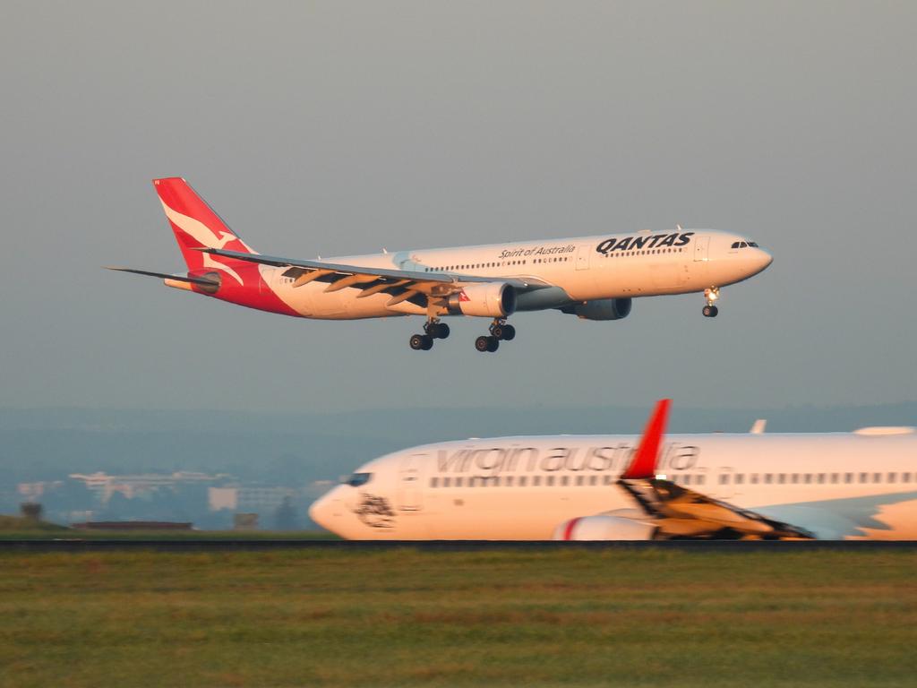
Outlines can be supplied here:
M551 284L536 279L481 277L449 272L419 272L411 270L393 270L389 268L369 268L359 265L343 265L327 261L303 261L264 256L254 253L241 253L235 250L202 248L204 253L233 258L238 261L257 262L273 267L286 267L285 277L293 277L293 286L303 286L310 282L328 283L326 292L351 287L359 289L358 298L371 294L391 294L389 305L401 301L414 301L415 297L443 296L461 291L463 284L469 283L508 283L517 291L525 292L544 289ZM422 305L422 304L421 304Z

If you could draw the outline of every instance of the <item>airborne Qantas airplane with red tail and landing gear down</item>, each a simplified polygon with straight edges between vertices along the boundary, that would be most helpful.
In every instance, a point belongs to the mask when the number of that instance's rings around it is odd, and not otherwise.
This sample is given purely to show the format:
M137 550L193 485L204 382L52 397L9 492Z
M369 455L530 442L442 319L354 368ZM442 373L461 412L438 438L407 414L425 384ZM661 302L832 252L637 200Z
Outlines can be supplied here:
M491 318L479 351L515 337L516 311L556 309L587 320L618 320L638 296L702 292L714 317L720 288L746 280L770 254L740 235L712 229L642 230L454 249L403 250L327 260L264 256L180 178L153 181L187 271L160 277L171 287L286 316L349 320L425 316L414 350L449 336L444 316Z

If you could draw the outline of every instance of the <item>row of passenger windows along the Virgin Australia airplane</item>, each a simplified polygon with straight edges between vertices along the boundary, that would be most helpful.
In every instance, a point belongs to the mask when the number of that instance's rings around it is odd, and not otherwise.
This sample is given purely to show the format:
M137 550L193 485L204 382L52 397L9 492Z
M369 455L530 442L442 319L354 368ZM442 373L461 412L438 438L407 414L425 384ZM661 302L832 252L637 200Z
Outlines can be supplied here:
M703 485L703 473L678 473L669 480L679 485ZM747 481L746 481L747 478ZM861 472L861 473L722 473L721 485L735 484L839 484L839 483L911 483L917 482L917 473L911 472ZM473 475L434 476L430 487L552 487L610 485L616 476L604 475Z

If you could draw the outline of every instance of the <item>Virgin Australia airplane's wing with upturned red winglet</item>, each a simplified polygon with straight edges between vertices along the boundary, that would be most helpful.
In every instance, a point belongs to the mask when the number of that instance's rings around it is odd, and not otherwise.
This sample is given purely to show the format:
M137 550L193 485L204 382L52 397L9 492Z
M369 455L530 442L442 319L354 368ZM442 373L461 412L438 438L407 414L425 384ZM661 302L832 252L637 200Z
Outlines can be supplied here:
M657 538L813 539L808 530L730 505L657 476L657 460L668 417L661 400L618 485L657 526Z

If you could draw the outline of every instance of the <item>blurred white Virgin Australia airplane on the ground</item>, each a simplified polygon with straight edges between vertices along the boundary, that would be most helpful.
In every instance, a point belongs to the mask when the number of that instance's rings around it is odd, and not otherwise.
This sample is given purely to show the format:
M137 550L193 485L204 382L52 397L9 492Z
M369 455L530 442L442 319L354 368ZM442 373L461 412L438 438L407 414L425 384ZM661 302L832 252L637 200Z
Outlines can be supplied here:
M915 539L913 427L509 437L404 449L309 510L348 539Z

